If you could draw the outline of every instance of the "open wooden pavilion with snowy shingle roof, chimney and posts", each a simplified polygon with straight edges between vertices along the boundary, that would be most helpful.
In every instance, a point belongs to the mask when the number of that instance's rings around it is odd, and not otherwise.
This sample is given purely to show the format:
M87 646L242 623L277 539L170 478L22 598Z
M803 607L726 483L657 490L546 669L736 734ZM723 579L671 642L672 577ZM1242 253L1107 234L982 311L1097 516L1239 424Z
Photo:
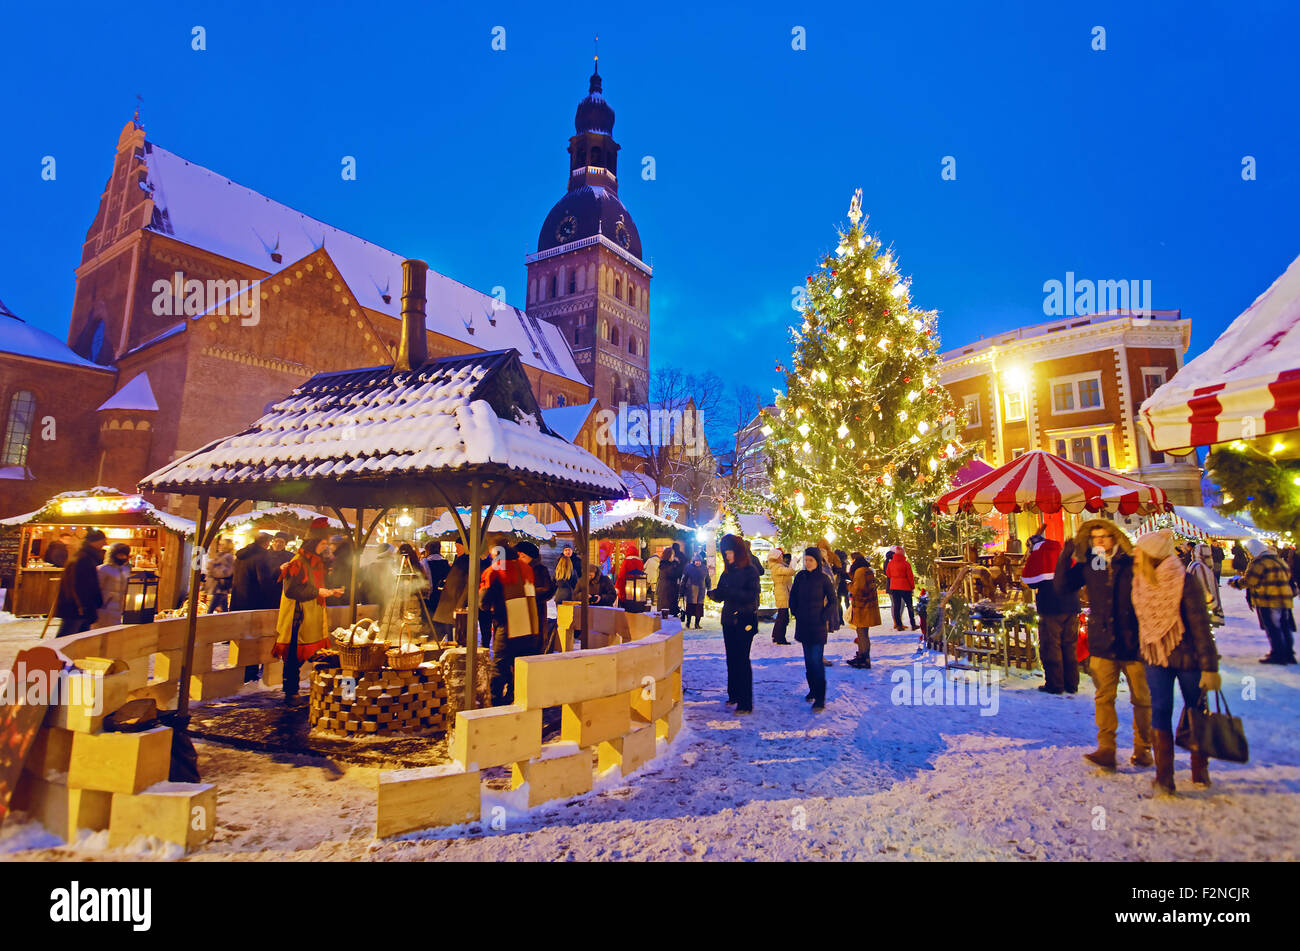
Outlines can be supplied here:
M356 551L390 508L445 508L471 565L478 564L498 505L550 503L585 540L588 503L624 498L627 487L595 456L546 427L517 351L428 359L426 273L424 261L402 262L402 336L391 366L316 374L248 429L146 477L142 490L198 496L204 547L226 516L251 500L334 512ZM462 504L469 505L468 524L456 512ZM368 525L367 511L374 513ZM190 585L182 683L194 653L196 576L198 569ZM478 586L468 591L473 631ZM350 600L355 620L355 572ZM582 602L580 626L586 630L585 596ZM465 709L474 707L476 664L471 639ZM182 691L182 716L187 699Z

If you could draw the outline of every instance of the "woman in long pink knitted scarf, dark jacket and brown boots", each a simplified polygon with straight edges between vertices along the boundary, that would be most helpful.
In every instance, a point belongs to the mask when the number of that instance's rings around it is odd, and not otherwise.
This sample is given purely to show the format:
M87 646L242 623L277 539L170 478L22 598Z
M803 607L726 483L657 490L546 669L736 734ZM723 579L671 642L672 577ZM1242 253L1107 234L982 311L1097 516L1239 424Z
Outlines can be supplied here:
M1202 696L1222 686L1218 648L1210 634L1205 596L1196 582L1188 582L1174 550L1174 535L1167 530L1143 535L1134 553L1134 612L1147 665L1156 747L1152 786L1157 795L1173 795L1174 682L1183 694L1183 704L1199 711ZM1209 760L1196 750L1192 751L1192 782L1197 786L1210 783Z

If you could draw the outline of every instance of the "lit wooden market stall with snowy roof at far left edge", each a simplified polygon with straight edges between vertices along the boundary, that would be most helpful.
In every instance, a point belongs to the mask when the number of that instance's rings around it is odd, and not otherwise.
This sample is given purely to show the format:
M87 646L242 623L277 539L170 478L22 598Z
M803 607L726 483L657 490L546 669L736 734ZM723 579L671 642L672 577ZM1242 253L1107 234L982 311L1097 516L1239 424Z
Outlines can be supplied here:
M144 611L178 604L194 522L155 508L143 496L96 486L62 492L35 512L0 520L0 547L8 551L5 560L13 572L5 609L20 617L48 615L62 568L46 556L62 560L75 555L91 529L103 530L109 544L122 542L131 548L129 613L139 617ZM61 555L52 553L61 548ZM0 581L0 587L5 586Z

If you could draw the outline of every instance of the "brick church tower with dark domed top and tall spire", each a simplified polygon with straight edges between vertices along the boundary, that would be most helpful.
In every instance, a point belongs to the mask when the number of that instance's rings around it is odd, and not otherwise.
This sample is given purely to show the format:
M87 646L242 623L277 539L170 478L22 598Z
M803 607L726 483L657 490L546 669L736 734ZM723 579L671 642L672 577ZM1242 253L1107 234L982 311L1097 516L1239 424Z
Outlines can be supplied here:
M610 408L644 403L650 383L650 268L619 200L614 109L599 62L573 117L568 182L528 255L530 316L556 325L593 395Z

